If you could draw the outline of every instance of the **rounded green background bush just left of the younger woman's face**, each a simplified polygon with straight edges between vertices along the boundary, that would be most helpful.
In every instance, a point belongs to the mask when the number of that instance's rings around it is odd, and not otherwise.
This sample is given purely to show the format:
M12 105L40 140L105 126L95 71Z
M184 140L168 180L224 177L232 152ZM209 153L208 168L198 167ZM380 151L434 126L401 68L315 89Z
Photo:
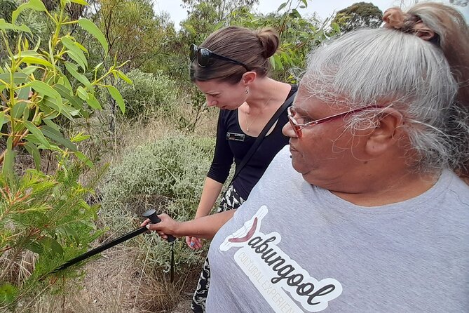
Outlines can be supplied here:
M125 85L121 94L125 100L125 116L137 117L141 114L154 115L157 112L171 112L176 102L177 88L175 81L162 73L144 73L133 69L128 77L133 86Z

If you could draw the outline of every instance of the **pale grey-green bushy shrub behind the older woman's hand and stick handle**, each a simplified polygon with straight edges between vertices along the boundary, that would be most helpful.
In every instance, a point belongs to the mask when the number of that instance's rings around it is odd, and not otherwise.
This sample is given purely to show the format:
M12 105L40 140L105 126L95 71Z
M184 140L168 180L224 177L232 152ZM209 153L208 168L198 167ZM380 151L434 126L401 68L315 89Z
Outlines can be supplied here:
M101 188L104 223L111 229L130 231L149 208L176 220L193 218L214 145L212 139L178 136L126 152L123 161L110 169ZM146 265L169 270L170 246L166 242L154 234L138 237L137 243ZM196 264L204 256L203 251L190 251L182 239L175 243L177 269Z

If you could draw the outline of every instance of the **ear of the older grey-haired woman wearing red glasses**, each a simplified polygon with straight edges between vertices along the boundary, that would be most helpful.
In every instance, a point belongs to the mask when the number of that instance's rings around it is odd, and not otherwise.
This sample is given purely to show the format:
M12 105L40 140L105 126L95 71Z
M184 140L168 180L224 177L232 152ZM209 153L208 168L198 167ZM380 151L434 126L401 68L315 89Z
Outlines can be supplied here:
M383 154L396 144L403 135L404 116L393 108L383 109L376 116L374 129L369 133L365 149L368 154L377 156Z

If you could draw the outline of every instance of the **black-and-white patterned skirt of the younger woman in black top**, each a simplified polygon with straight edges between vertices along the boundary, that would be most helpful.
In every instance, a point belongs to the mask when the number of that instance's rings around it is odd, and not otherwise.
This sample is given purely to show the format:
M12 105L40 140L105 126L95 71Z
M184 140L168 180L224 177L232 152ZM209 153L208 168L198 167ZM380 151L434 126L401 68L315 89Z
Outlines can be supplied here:
M240 197L238 192L230 185L222 198L217 212L224 212L238 208L245 200ZM200 278L198 279L196 292L193 294L191 309L194 313L205 312L205 300L207 300L208 288L210 286L210 266L208 265L208 258L205 259L203 264Z

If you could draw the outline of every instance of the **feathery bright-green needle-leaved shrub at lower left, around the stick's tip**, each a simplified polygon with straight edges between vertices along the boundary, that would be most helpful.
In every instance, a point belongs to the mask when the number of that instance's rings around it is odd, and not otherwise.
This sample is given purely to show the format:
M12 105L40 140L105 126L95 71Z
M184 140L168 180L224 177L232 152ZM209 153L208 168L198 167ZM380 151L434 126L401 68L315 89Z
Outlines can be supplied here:
M81 185L83 165L63 161L55 175L28 170L21 178L0 174L0 312L26 310L41 293L67 293L58 277L75 277L74 269L50 274L86 252L102 232L95 228L99 206L86 199L102 172Z

